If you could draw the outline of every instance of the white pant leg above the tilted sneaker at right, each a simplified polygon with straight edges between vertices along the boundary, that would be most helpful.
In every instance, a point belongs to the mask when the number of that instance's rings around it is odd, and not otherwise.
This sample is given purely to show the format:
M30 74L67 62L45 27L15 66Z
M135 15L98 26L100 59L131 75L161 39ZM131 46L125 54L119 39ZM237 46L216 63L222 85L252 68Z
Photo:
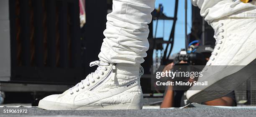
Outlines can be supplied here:
M200 15L210 24L222 17L256 18L256 5L243 3L240 0L191 0L198 6Z

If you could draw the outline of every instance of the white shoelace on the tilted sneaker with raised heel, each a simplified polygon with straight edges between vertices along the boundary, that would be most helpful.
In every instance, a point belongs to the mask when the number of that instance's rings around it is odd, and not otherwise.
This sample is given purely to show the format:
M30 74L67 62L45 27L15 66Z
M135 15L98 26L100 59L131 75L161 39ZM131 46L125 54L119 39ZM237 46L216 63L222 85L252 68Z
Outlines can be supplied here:
M224 39L224 36L223 35L220 35L221 33L224 32L223 29L221 29L221 27L223 27L224 24L221 23L220 25L218 25L217 27L217 30L215 31L214 33L214 38L216 40L216 43L215 43L215 47L214 47L214 50L212 52L212 55L211 57L209 58L210 60L206 63L206 65L211 65L211 62L213 60L215 60L215 57L218 55L218 50L220 50L220 45L223 43L222 39Z

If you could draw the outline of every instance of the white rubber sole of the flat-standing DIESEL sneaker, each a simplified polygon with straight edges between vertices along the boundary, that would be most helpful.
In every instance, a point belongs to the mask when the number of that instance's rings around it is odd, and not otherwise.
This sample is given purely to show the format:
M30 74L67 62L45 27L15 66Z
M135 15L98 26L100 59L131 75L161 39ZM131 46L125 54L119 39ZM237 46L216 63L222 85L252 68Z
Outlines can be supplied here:
M141 110L143 105L141 97L142 95L134 96L131 103L103 105L73 105L40 100L38 107L44 110Z

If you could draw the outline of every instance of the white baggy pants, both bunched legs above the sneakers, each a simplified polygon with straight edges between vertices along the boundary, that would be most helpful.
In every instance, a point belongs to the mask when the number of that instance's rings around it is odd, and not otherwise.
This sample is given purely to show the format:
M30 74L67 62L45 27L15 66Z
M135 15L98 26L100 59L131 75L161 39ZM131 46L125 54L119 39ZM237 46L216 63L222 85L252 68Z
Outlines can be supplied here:
M240 0L192 0L210 24L221 17L256 17L255 5ZM110 63L140 64L148 50L148 23L155 0L113 0L113 12L107 15L107 28L100 60Z

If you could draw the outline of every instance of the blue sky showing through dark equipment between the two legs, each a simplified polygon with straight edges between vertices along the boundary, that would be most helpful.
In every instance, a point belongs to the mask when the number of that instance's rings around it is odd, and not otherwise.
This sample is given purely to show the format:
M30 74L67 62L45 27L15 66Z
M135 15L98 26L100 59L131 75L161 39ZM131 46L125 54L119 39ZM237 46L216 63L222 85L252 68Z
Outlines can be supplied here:
M159 4L164 6L164 14L173 17L174 16L174 7L175 0L156 0L155 7L157 8ZM178 4L178 14L177 14L177 22L176 29L174 35L174 47L172 50L172 54L179 52L181 48L185 47L185 0L179 0ZM170 32L172 30L171 20L163 20L158 21L157 34L156 37L163 37L164 40L169 39ZM163 29L163 24L165 24ZM187 34L190 33L192 25L192 4L190 0L187 0ZM155 32L156 21L153 22L153 32ZM153 33L154 34L154 33Z

